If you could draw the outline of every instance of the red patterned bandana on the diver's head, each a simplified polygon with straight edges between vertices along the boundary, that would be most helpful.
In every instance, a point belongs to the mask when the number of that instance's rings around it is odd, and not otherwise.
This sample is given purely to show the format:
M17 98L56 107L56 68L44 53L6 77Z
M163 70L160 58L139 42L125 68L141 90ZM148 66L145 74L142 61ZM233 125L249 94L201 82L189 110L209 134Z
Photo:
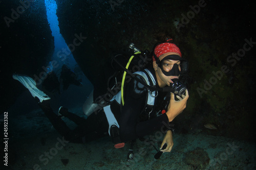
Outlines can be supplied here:
M168 53L168 52L175 52L180 55L181 52L177 45L169 42L161 43L155 47L154 50L157 57L161 56L162 54ZM155 61L155 58L153 56L153 61Z

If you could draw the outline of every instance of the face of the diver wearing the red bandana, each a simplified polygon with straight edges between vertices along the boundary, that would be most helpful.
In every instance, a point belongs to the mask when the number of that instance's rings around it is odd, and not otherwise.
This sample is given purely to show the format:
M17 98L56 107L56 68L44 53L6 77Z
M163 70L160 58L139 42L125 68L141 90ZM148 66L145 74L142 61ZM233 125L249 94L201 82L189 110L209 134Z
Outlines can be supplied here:
M166 56L168 55L179 55L177 53L174 52L168 52L165 53L161 56L159 56L159 60L163 60ZM178 64L179 70L180 70L180 61L179 60L164 60L163 61L163 69L167 72L169 72L174 64ZM153 61L153 67L156 71L156 77L157 77L157 82L159 87L164 87L164 86L170 86L170 83L173 83L172 79L179 79L179 76L165 76L161 70L161 68L158 66L158 64L156 63L156 61Z

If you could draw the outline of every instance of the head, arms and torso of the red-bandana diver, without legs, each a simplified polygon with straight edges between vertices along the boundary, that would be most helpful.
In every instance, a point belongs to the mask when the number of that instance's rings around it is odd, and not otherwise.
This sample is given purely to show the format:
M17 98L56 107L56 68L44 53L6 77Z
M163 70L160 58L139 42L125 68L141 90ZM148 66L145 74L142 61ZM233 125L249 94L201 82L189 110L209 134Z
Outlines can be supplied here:
M154 131L163 132L165 129L166 135L161 148L167 143L163 152L172 150L174 143L170 122L185 109L188 91L184 90L180 95L175 95L177 91L170 92L172 90L168 89L173 89L169 87L176 84L180 74L186 70L187 62L181 58L176 44L166 41L155 45L153 64L134 73L136 79L126 83L124 100L121 100L122 94L119 91L113 97L112 103L103 107L109 122L109 134L112 141L117 143L116 148L123 147L129 140L141 138ZM161 106L163 97L169 93L167 111L159 114L162 108L159 109L158 106Z

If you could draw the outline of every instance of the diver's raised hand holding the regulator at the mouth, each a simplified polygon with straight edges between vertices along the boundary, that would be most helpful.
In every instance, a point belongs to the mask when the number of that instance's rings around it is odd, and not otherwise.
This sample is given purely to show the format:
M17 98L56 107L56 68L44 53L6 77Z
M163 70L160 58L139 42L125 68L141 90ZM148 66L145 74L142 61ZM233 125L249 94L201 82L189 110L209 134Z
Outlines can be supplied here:
M168 111L166 112L169 122L172 122L173 119L186 108L188 97L189 95L187 90L185 95L182 95L182 97L177 95L179 101L175 100L174 93L170 93L170 103L168 105Z

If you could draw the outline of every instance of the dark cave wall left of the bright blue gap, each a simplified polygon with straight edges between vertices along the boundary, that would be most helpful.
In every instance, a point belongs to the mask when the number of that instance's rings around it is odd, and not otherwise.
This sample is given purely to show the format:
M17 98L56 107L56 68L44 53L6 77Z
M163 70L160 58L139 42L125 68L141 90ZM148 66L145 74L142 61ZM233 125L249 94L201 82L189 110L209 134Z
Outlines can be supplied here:
M1 13L1 113L26 90L12 74L39 77L54 50L54 39L48 25L45 1L4 0ZM29 107L29 104L28 104ZM13 113L15 114L15 113Z

